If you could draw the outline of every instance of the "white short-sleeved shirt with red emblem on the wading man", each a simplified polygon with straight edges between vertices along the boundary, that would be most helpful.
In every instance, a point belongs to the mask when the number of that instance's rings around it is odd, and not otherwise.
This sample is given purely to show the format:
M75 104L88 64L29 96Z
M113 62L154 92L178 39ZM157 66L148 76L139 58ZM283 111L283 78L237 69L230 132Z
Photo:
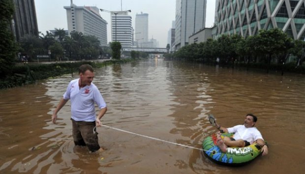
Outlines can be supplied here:
M105 108L106 103L93 83L79 88L78 82L79 79L72 80L63 94L63 99L71 100L71 118L75 121L95 121L94 103L99 109Z

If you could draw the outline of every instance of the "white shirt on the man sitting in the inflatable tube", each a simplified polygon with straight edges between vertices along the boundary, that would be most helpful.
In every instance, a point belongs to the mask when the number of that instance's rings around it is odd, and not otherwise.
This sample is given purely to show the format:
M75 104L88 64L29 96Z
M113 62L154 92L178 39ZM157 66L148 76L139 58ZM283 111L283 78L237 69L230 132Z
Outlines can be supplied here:
M262 134L256 129L256 127L246 128L244 125L237 125L234 127L228 128L229 133L235 133L233 138L235 140L245 140L253 144L257 139L263 139Z

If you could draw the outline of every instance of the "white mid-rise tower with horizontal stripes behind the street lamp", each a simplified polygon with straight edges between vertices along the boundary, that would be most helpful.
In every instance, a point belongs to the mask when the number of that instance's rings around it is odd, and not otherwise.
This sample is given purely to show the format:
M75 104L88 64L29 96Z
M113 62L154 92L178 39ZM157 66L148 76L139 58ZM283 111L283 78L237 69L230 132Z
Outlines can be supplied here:
M111 12L111 40L121 43L122 48L132 46L131 16L127 11Z

